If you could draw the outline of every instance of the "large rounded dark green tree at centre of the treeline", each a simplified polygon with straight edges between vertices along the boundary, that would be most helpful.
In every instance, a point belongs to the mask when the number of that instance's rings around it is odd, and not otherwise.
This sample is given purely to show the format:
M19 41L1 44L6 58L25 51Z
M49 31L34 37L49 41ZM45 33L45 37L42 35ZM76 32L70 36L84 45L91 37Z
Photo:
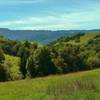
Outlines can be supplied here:
M28 73L31 77L46 76L56 73L56 67L47 47L37 49L27 62Z

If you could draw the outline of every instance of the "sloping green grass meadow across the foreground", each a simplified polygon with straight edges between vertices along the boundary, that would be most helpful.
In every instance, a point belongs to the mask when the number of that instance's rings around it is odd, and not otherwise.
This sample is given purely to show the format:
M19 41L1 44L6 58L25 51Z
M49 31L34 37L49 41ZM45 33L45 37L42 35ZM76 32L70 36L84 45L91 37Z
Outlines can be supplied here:
M99 100L100 69L0 83L0 100Z

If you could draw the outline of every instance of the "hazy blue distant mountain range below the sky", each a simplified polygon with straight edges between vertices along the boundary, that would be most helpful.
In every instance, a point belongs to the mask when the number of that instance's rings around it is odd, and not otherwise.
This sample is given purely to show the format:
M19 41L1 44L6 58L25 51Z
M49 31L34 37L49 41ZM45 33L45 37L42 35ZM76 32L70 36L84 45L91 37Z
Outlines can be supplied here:
M49 30L10 30L7 28L0 28L0 36L4 36L11 40L29 40L40 43L49 43L56 40L59 37L86 32L100 32L100 29L94 30L60 30L60 31L49 31Z

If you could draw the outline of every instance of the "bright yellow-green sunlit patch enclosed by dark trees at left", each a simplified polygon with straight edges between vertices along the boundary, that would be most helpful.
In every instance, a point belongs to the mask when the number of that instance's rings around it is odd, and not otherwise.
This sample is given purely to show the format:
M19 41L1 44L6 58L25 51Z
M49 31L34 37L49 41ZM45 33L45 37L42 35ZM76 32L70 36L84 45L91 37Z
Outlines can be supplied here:
M20 58L14 57L10 55L5 55L4 62L9 69L10 80L19 80L22 78L22 74L20 72Z

